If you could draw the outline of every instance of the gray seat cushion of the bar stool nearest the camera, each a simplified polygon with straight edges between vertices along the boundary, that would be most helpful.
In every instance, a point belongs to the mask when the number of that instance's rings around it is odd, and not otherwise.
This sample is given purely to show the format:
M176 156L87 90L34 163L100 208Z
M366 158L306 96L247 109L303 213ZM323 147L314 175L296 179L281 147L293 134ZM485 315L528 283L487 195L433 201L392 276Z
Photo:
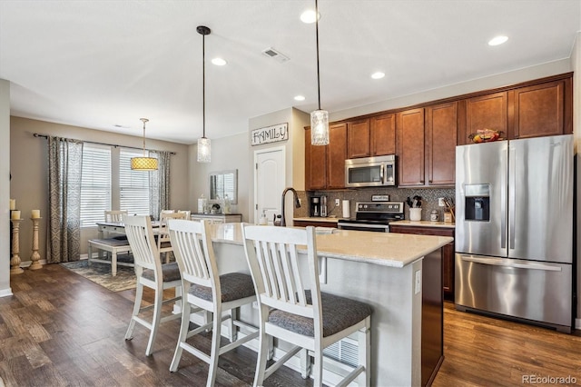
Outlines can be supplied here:
M310 291L305 291L305 295L307 303L312 304ZM320 293L320 303L323 314L323 337L341 332L351 325L365 320L373 312L367 303L360 303L350 298L329 293ZM269 314L269 323L303 336L314 337L315 335L312 319L296 314L275 309Z

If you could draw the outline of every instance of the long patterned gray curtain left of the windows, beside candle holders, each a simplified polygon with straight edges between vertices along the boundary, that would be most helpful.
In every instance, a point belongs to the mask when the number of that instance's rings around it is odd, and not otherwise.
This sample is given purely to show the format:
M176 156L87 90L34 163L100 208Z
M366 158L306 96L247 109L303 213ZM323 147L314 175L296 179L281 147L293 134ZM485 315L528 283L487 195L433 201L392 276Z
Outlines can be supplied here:
M47 263L79 260L82 171L83 142L48 136Z

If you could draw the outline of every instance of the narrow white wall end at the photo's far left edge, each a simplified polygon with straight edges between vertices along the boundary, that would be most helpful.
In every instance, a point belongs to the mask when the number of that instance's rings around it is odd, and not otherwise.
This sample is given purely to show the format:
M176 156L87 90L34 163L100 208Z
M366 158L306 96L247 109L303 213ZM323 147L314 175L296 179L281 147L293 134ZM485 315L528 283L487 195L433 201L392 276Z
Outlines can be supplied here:
M10 83L0 79L0 144L10 144ZM0 297L10 289L10 146L0 152Z

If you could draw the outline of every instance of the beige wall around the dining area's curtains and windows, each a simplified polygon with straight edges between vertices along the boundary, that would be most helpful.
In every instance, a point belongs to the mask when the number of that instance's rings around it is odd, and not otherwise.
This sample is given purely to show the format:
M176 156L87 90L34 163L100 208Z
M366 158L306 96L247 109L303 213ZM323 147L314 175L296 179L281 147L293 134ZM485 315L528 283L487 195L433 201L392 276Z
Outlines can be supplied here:
M41 259L46 259L48 146L46 139L34 137L34 133L59 135L78 140L125 146L139 147L142 144L142 137L113 133L103 135L102 131L78 126L52 124L44 121L11 117L10 149L12 153L10 154L10 169L12 172L12 184L10 185L10 197L16 199L16 206L18 210L22 211L21 217L24 219L20 223L20 252L23 263L30 261L30 255L32 253L32 222L30 221L30 214L33 209L40 209L43 218L40 221L39 228L39 253ZM172 155L171 159L170 204L172 208L185 209L188 207L188 146L148 140L147 147L149 149L176 153ZM96 237L96 235L96 227L82 229L82 254L87 252L86 241Z

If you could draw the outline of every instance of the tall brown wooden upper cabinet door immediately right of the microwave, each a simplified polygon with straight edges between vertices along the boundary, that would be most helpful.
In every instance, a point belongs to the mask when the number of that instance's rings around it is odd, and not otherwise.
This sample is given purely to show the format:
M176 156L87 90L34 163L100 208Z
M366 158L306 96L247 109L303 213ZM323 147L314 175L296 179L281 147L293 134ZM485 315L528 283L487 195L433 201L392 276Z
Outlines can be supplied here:
M400 187L425 183L424 109L397 114L397 149Z

